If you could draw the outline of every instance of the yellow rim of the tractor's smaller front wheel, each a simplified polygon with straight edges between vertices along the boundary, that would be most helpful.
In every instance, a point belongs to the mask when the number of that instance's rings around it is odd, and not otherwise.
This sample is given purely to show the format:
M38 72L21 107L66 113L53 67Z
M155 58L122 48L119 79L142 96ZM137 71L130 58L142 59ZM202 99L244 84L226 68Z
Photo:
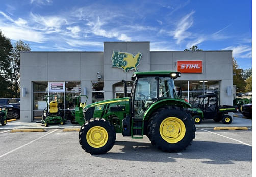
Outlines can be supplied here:
M100 126L90 128L86 134L87 143L93 148L103 147L107 143L108 138L107 130Z

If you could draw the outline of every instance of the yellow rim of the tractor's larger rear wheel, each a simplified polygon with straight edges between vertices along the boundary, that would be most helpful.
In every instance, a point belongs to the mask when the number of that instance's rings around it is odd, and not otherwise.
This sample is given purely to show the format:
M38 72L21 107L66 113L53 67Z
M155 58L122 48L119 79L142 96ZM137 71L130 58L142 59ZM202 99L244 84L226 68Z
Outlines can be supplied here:
M186 133L185 124L177 117L167 117L160 124L160 135L168 143L181 141Z

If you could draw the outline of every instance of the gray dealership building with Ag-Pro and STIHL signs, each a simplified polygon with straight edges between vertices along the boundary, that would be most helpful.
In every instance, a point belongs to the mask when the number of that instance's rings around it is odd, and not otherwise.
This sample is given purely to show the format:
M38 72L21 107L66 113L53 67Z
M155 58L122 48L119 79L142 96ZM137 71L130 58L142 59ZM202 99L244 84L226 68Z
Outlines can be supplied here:
M65 115L79 95L88 96L86 104L123 97L121 80L129 95L136 70L180 71L176 91L190 103L205 93L216 93L220 105L233 103L231 50L150 51L148 41L104 42L102 52L22 52L20 69L21 122L41 119L47 95L57 96Z

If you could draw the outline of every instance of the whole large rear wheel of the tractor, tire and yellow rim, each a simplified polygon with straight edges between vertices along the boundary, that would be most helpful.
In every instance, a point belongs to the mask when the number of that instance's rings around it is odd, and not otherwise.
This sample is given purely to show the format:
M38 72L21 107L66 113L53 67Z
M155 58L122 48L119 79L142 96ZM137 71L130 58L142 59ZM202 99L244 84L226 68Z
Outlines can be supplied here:
M163 107L152 114L148 137L152 145L167 152L184 150L195 138L195 124L180 107Z

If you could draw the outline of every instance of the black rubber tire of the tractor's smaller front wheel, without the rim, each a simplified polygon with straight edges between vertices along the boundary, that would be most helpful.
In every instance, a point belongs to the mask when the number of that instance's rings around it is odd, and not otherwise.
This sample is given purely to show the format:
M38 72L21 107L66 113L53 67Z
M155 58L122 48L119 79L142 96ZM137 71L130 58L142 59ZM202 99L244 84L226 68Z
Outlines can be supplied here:
M91 128L99 126L103 127L107 134L108 138L105 141L106 143L101 147L93 147L90 144L90 141L88 143L87 140L87 133ZM90 132L89 132L90 133ZM80 132L79 132L79 143L81 147L90 154L105 154L107 153L115 144L116 140L116 132L115 128L112 124L110 124L109 121L106 121L105 119L90 119L89 121L86 121L84 125L82 125Z

